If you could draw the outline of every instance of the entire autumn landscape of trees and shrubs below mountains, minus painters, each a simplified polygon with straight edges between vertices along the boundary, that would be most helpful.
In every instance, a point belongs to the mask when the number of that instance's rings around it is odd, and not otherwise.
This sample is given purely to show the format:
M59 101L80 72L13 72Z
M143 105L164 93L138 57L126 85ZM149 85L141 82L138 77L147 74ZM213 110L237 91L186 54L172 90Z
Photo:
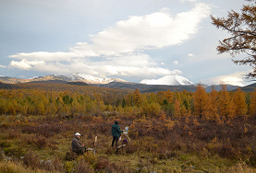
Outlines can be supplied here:
M130 142L111 147L111 126ZM0 90L0 172L255 172L256 90L19 84ZM95 155L70 158L74 133ZM94 137L98 141L94 143ZM119 142L122 144L122 141Z

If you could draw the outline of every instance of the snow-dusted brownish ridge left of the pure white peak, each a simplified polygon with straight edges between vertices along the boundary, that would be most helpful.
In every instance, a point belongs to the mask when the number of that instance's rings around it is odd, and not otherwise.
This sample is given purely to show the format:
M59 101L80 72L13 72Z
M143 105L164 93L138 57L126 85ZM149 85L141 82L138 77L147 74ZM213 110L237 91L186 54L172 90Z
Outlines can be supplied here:
M86 74L72 74L72 75L54 75L57 78L61 78L67 81L81 81L87 84L109 84L111 82L128 82L119 78L101 78Z

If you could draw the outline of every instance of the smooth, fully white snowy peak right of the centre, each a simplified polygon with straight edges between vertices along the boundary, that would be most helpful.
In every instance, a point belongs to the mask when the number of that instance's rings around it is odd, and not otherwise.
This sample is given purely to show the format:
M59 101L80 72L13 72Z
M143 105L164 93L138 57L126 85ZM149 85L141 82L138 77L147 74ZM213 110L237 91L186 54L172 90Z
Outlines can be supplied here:
M159 79L143 79L140 84L166 85L166 86L190 86L193 85L189 79L181 75L165 75Z

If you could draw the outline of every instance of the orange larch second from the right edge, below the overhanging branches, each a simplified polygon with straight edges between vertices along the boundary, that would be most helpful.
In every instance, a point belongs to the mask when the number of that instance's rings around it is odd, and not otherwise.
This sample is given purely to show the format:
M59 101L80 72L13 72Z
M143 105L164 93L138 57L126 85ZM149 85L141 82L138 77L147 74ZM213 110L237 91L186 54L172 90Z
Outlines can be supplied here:
M236 115L245 116L247 112L247 104L245 93L240 88L238 88L238 90L234 93L233 100L236 108Z

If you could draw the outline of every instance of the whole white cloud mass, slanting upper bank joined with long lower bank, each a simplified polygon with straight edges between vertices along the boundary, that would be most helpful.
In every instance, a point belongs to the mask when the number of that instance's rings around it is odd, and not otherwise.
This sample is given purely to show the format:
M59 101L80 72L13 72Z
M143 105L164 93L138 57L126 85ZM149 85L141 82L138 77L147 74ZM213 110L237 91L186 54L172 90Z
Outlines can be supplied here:
M91 35L90 43L78 42L69 48L69 52L20 52L10 55L15 59L10 66L55 74L172 75L177 70L159 67L161 63L156 63L142 52L189 40L197 32L201 19L209 16L209 10L209 6L198 4L176 17L170 15L168 8L150 15L131 16Z

